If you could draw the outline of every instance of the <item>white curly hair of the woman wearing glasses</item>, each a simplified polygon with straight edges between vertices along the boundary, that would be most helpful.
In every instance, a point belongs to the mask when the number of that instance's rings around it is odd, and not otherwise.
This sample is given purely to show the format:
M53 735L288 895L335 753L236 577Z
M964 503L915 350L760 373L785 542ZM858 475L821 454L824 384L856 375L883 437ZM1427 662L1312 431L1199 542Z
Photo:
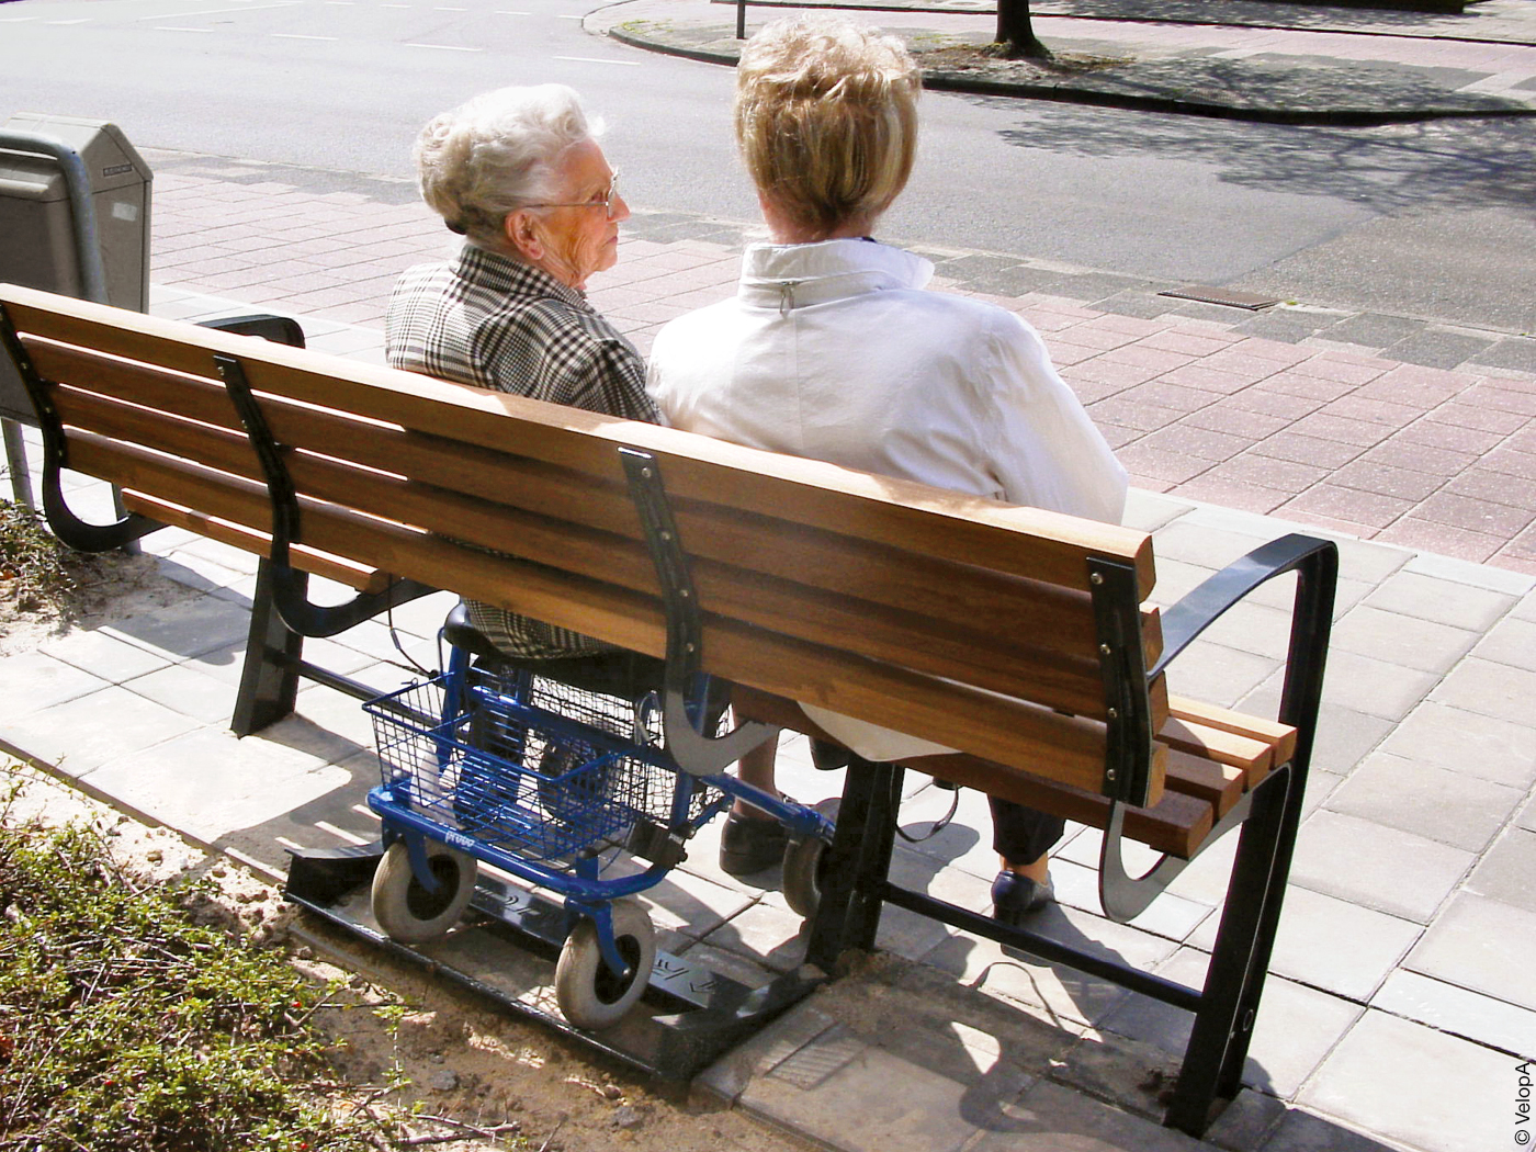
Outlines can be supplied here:
M421 198L472 243L502 249L510 212L559 198L554 164L571 144L594 140L565 84L499 88L433 117L416 138Z

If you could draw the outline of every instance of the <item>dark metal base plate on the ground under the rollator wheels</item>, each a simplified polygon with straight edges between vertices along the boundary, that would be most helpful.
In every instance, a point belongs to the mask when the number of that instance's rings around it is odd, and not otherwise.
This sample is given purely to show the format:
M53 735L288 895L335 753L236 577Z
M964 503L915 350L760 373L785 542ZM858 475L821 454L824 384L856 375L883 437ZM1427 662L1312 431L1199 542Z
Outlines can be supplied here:
M570 923L561 905L482 872L472 911L458 928L441 940L407 946L384 935L370 911L369 885L381 845L292 849L290 856L284 895L293 903L508 1012L667 1080L691 1078L825 980L802 968L754 989L657 951L636 1011L613 1028L587 1032L568 1025L554 1005L554 958Z

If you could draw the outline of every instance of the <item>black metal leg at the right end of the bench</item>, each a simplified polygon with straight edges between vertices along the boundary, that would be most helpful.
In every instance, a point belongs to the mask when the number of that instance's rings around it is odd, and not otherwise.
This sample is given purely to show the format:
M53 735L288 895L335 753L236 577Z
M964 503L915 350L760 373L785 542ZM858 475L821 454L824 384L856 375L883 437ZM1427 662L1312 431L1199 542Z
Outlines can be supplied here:
M1184 1051L1184 1066L1164 1123L1190 1135L1209 1124L1218 1095L1235 1095L1253 1035L1253 1017L1275 926L1290 874L1293 805L1289 770L1273 773L1253 793L1253 808L1243 823L1232 883L1227 891L1201 1006Z

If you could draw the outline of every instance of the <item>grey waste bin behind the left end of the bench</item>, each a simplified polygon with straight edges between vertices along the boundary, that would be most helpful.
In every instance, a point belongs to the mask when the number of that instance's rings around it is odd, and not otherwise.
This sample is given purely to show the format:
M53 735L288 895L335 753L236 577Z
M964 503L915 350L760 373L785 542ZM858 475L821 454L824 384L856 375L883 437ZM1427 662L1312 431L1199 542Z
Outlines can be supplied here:
M83 161L83 189L94 226L75 220L71 169L55 155L31 151L28 137L46 137ZM78 172L78 169L74 169ZM18 112L0 126L0 281L100 298L92 292L81 237L94 233L104 301L149 307L149 194L154 177L117 124L104 120ZM35 422L22 381L0 358L0 416Z

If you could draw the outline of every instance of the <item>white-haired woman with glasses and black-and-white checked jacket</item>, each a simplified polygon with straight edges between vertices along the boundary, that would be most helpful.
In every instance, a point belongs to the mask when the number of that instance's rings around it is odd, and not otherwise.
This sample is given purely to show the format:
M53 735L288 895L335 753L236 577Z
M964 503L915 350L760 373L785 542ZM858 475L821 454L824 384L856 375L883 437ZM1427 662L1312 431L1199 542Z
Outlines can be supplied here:
M630 209L564 84L504 88L433 118L416 140L421 195L459 253L409 269L384 323L393 367L656 422L645 361L587 303L587 278L617 260ZM588 636L467 602L470 624L556 679L642 694L659 662Z

